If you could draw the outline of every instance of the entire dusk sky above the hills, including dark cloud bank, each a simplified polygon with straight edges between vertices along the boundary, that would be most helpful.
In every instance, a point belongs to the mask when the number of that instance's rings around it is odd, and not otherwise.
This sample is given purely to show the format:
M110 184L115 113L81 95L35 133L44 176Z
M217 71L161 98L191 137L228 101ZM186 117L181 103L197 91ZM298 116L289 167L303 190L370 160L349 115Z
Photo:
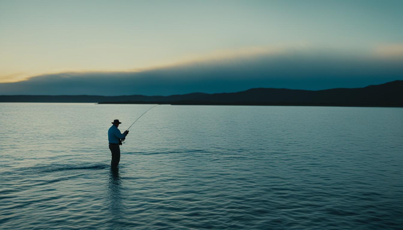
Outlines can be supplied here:
M402 8L400 0L0 0L0 95L403 80Z

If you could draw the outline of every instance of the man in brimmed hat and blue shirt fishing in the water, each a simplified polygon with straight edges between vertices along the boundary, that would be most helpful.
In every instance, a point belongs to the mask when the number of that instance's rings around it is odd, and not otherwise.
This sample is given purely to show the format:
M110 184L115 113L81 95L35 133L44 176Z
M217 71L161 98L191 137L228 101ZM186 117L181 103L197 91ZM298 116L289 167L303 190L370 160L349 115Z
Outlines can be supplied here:
M112 168L116 168L120 161L119 145L122 144L120 140L125 139L126 135L129 133L128 130L126 130L123 134L120 133L120 130L118 129L119 124L122 124L122 122L119 122L119 120L114 120L112 122L112 126L110 126L108 130L109 149L112 153L110 166L112 166Z

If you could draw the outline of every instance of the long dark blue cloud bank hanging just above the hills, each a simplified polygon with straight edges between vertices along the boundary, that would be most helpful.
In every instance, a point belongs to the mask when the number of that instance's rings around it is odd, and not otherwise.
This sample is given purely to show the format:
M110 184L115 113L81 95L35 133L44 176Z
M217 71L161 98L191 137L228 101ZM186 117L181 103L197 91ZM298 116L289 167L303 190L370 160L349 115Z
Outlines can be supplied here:
M403 58L308 49L213 55L137 72L56 73L1 83L1 95L171 95L255 87L365 87L403 79Z

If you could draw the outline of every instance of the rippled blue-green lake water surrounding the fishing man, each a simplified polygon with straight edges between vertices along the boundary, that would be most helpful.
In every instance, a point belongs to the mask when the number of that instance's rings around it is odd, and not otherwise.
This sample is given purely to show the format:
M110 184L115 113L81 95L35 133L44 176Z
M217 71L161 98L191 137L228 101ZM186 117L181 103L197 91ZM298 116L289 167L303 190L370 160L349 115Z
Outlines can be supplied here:
M403 109L0 104L0 229L402 229Z

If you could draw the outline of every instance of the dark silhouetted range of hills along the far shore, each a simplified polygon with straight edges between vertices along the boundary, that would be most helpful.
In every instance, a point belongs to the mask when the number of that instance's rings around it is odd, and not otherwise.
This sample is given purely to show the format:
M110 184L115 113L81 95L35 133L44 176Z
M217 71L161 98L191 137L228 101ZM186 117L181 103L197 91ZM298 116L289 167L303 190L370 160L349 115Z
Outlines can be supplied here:
M403 107L403 81L369 85L364 88L337 88L318 91L254 88L236 93L189 93L170 96L0 95L0 102Z

